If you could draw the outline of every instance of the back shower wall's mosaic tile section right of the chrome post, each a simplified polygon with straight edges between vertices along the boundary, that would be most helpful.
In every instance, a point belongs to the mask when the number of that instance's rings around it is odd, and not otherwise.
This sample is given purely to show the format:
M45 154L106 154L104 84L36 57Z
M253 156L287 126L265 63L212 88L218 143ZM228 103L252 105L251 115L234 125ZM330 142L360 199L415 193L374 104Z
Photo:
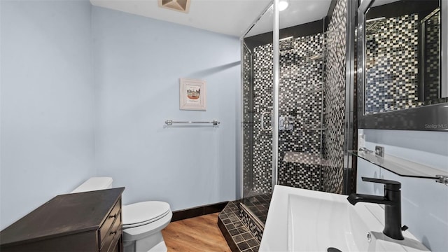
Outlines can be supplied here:
M279 132L279 184L320 190L323 109L323 38L314 34L290 39L280 52L279 115L294 118L292 131ZM314 160L285 160L308 153Z

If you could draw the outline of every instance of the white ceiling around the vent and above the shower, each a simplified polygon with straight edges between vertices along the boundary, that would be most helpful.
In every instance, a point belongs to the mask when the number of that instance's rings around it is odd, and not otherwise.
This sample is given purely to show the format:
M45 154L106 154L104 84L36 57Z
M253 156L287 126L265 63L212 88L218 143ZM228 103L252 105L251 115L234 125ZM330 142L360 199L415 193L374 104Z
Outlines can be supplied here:
M290 27L323 18L331 0L288 0L280 26ZM160 8L158 0L90 0L94 6L240 37L271 0L191 0L188 13ZM272 13L272 10L270 11ZM260 20L251 35L272 31L272 14Z

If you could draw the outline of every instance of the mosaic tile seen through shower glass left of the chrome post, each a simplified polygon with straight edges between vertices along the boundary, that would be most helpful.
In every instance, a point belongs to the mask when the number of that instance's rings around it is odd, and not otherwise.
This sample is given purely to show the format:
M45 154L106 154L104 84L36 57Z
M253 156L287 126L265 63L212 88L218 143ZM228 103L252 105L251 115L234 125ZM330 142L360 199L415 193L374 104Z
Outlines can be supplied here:
M262 62L266 55L272 46L251 51L244 45L244 197L272 191L272 62Z

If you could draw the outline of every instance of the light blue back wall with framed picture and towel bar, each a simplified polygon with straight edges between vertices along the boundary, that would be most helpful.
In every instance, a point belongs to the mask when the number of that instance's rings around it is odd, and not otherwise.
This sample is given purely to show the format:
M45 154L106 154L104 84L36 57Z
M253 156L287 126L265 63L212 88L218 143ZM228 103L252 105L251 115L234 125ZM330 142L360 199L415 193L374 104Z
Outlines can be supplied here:
M99 7L92 17L97 174L126 187L124 204L235 200L239 39ZM179 110L179 78L207 81L207 111Z

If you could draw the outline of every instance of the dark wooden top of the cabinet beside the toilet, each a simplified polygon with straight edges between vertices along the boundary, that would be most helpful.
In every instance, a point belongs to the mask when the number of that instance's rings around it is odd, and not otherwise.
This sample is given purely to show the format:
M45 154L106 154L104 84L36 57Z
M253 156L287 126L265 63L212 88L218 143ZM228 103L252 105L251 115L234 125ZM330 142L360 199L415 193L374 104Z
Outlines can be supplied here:
M0 232L1 248L98 230L125 188L57 195Z

